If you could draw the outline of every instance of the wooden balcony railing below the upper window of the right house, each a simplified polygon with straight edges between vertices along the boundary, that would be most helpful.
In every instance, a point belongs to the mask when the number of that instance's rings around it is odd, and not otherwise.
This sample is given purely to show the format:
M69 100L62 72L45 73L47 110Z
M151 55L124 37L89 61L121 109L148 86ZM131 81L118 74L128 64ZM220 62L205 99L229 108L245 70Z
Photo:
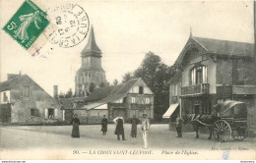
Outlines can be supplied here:
M209 94L209 83L199 83L181 87L181 95Z

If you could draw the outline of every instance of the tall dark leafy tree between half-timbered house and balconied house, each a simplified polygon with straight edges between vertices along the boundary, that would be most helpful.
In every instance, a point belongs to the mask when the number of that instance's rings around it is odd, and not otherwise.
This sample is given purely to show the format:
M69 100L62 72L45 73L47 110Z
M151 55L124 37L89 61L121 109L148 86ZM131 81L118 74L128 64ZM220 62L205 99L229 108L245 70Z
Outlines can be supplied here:
M160 121L162 114L168 108L168 85L166 84L174 75L173 67L168 67L161 62L160 56L148 52L141 66L134 72L136 78L143 81L152 89L155 94L154 111L155 120Z

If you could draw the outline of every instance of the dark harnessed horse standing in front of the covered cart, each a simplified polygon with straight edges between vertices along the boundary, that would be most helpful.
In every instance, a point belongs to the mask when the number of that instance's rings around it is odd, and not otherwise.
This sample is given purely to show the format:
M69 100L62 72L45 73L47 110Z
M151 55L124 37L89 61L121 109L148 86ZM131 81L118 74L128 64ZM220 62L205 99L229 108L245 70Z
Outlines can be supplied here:
M182 116L183 121L190 122L193 125L194 132L196 132L196 138L199 138L198 130L202 127L208 127L210 135L208 139L212 139L213 135L213 125L216 121L220 120L220 104L213 106L213 112L211 115L202 115L202 114L185 114Z

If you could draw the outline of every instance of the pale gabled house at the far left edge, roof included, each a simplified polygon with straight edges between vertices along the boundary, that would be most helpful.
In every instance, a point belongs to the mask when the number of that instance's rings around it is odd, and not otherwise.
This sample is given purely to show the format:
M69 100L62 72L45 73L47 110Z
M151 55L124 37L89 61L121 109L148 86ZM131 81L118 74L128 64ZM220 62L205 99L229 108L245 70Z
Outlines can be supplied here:
M0 82L0 122L41 124L62 121L61 104L28 75Z

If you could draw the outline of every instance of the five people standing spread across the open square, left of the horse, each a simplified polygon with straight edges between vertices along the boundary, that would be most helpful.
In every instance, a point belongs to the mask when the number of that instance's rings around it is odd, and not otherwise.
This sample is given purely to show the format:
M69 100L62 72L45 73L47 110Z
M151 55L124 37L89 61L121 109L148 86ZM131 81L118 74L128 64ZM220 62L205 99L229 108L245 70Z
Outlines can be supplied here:
M124 135L124 127L123 127L124 119L121 116L121 114L119 114L118 117L113 119L113 122L116 124L114 135L117 136L117 140L120 140L120 136L122 136L122 140L126 140ZM132 124L131 136L137 137L137 126L140 124L140 120L136 118L136 116L134 115L129 122L130 124ZM76 114L74 115L74 118L72 119L71 124L73 125L71 136L80 137L80 132L79 132L80 121ZM108 124L108 120L107 118L105 118L105 115L103 115L103 118L101 120L101 132L103 136L106 135L107 124ZM148 148L148 133L150 131L150 120L147 118L147 114L143 114L141 129L142 129L143 140L144 140L144 148Z

